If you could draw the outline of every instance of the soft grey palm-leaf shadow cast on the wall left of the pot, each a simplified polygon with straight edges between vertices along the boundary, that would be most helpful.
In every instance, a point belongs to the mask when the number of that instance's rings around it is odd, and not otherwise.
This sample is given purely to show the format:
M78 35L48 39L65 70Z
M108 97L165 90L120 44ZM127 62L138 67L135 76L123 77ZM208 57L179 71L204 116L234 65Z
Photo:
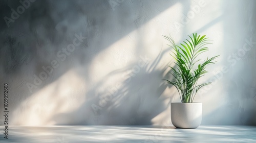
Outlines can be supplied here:
M61 118L74 116L74 125L153 125L152 119L169 107L169 96L163 96L167 88L164 74L166 66L158 67L165 52L157 58L140 57L125 68L112 71L104 79L122 75L121 81L99 90L106 81L99 81L89 90L87 100L75 111L54 115L49 121L61 123ZM167 103L167 104L166 104ZM161 120L170 118L169 114Z

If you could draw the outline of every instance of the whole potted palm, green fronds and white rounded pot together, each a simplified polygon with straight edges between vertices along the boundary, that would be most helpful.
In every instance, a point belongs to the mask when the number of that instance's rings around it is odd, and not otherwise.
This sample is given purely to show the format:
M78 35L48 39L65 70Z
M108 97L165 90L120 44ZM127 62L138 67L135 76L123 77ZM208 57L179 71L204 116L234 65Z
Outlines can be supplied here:
M176 128L197 128L202 121L202 103L193 101L198 90L210 83L197 83L207 73L205 68L214 64L215 59L219 57L214 56L206 60L199 58L199 55L209 50L207 45L211 44L205 36L193 33L193 37L189 36L180 45L177 45L172 37L164 36L170 42L169 46L174 49L170 55L176 61L174 67L169 66L173 79L164 79L177 88L181 100L181 103L171 103L171 119Z

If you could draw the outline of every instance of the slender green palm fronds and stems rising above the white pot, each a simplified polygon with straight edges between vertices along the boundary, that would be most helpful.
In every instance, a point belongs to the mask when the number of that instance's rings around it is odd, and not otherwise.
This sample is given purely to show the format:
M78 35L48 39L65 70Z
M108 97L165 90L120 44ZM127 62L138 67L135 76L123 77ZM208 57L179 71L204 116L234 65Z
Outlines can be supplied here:
M170 55L176 60L175 68L169 66L171 69L169 73L174 76L173 80L165 79L165 81L177 88L181 102L193 102L198 90L210 84L207 82L197 85L198 79L207 73L205 68L209 64L216 63L214 60L219 57L215 56L206 60L198 59L200 54L209 50L207 45L211 44L205 36L197 36L197 33L193 33L193 37L189 36L189 39L186 39L180 45L176 45L172 37L164 36L170 42L169 46L173 47L174 52ZM199 61L204 62L199 63Z

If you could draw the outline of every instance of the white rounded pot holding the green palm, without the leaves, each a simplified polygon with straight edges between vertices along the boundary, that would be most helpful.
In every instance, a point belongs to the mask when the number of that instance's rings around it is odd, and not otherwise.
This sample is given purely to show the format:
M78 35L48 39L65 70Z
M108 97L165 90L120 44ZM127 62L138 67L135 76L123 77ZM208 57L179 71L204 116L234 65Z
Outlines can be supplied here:
M202 103L170 103L170 113L176 128L197 128L202 121Z

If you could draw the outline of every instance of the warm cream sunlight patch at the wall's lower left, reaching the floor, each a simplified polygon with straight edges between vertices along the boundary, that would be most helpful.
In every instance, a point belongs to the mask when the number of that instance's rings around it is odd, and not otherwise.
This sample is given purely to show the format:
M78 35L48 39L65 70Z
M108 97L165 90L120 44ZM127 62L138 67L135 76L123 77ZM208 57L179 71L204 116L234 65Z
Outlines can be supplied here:
M74 69L40 89L13 111L13 125L54 125L53 116L76 110L83 102L81 85ZM79 98L78 98L79 97ZM76 104L73 104L76 103Z

